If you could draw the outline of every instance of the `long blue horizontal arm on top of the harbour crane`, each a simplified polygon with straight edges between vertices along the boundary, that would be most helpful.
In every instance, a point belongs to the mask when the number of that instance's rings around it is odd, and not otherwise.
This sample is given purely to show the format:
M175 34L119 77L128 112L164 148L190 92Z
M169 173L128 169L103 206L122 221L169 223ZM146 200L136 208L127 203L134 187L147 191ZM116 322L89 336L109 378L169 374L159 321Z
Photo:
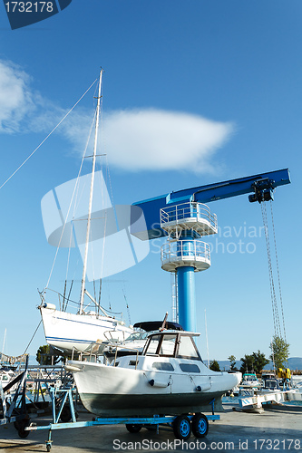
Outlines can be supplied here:
M290 183L288 169L280 169L269 171L268 173L259 173L258 175L248 176L245 178L229 179L206 186L195 188L185 188L170 192L169 194L159 197L137 201L132 206L141 207L147 228L140 228L139 223L132 223L131 233L133 236L139 237L141 240L150 240L157 237L166 236L167 234L161 229L160 210L164 207L177 205L178 203L186 203L189 201L197 201L200 203L209 203L219 199L237 197L244 194L251 195L249 201L259 201L259 188L261 191L271 191L278 186L284 186ZM264 197L261 201L264 201Z

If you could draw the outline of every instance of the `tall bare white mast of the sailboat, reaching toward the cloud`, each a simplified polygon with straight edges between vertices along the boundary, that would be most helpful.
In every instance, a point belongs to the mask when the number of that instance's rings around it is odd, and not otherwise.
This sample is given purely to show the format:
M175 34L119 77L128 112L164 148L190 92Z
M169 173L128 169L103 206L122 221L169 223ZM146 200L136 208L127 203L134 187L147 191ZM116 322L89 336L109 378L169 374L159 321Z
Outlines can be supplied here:
M90 185L90 197L89 197L89 207L88 207L88 217L87 217L85 255L84 255L84 260L83 260L83 276L82 276L82 286L81 286L80 313L83 313L83 298L84 298L84 293L85 293L85 279L86 279L86 269L87 269L87 259L88 259L89 235L90 235L90 225L91 225L91 220L92 220L95 158L96 158L96 149L97 149L97 143L98 143L100 107L101 107L101 98L102 98L102 95L101 95L102 72L103 72L103 70L101 68L100 80L99 80L99 93L98 93L98 97L97 97L98 101L97 101L97 107L96 107L95 133L94 133L94 146L93 146L93 170L92 170L92 179L91 179L91 185Z

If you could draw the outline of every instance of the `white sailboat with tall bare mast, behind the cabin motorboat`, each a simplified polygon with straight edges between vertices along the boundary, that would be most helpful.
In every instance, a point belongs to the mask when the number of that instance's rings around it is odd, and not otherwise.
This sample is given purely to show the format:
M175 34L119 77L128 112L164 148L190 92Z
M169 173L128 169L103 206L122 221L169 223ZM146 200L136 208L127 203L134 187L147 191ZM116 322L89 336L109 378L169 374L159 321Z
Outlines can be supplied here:
M42 316L46 342L53 346L55 349L58 349L62 352L88 352L92 349L92 347L94 348L94 352L102 352L102 347L105 342L108 342L109 340L114 340L116 342L122 341L133 332L131 326L127 326L122 318L119 319L116 314L109 313L109 311L105 310L101 306L100 301L97 302L96 298L93 298L93 296L89 294L86 289L88 258L92 254L91 250L89 249L93 231L92 221L95 219L95 215L93 217L92 212L93 188L96 174L95 167L97 157L98 129L102 99L102 72L103 70L101 70L100 72L97 96L93 156L90 156L93 158L93 169L90 179L88 214L86 210L85 216L82 216L81 218L81 220L84 220L84 223L86 223L86 232L85 241L83 241L84 244L81 244L83 250L83 276L81 283L79 308L77 313L67 312L63 308L66 308L67 303L70 302L69 296L66 297L65 294L59 294L59 299L61 297L61 300L63 300L63 307L61 306L61 308L59 307L58 309L56 304L50 303L47 299L46 294L49 294L49 288L44 289L44 291L40 293L41 304L38 306ZM87 178L89 178L89 176L90 175L86 175L81 178L85 179L85 181L87 182ZM71 183L73 181L69 182ZM106 217L107 214L108 210L102 210L103 217ZM61 211L60 215L62 215ZM72 228L73 227L68 226L64 223L61 238L63 234L67 235L71 233ZM83 222L81 224L81 228L83 230ZM95 229L96 228L94 227L94 230ZM105 238L103 237L102 240L104 241ZM100 259L102 260L102 258ZM84 304L85 297L88 297L88 299L90 300L90 303L86 304L86 306ZM92 303L95 306L95 310L92 311L91 309L89 309L88 311L88 307L90 307L90 304Z

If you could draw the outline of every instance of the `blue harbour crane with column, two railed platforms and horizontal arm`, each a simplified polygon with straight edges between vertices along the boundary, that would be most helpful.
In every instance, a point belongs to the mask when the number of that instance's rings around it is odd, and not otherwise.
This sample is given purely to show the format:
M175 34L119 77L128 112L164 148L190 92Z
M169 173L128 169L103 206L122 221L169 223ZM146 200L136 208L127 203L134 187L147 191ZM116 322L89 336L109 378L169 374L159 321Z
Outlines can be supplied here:
M202 236L217 233L217 219L204 203L249 194L249 202L262 203L273 199L278 186L290 183L288 169L230 179L138 201L144 222L132 222L132 235L141 240L168 236L161 247L161 267L177 275L179 322L185 330L196 330L194 273L210 265L209 245ZM137 216L137 210L133 210ZM146 234L147 232L147 234Z

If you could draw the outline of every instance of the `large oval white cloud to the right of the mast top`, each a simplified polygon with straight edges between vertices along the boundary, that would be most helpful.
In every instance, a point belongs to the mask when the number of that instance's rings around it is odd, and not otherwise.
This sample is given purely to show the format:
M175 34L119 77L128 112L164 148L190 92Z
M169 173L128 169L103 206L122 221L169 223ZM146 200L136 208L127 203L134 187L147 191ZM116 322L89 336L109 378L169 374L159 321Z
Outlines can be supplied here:
M109 161L131 171L209 171L214 151L233 130L230 122L155 109L115 111L104 122Z

